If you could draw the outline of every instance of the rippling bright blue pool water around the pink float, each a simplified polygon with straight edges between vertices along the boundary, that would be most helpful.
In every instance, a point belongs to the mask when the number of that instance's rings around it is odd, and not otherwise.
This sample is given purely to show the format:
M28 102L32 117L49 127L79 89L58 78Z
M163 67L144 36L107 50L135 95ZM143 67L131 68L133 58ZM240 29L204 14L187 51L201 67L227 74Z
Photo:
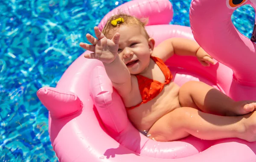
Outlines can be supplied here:
M55 87L84 51L79 42L111 9L129 0L1 0L0 162L57 161L48 134L48 112L36 96ZM190 0L171 0L171 24L189 26ZM239 8L232 20L250 37L254 10Z

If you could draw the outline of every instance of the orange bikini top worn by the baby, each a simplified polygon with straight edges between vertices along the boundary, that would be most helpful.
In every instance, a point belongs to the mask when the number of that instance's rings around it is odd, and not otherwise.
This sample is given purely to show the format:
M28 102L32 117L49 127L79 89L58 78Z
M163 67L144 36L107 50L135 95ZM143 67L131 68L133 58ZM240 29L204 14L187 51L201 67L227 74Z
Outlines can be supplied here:
M142 102L137 104L136 106L126 107L126 109L134 109L135 107L138 107L143 103L151 101L153 98L159 95L159 93L163 90L163 87L166 84L169 84L172 80L172 73L170 72L166 64L164 64L163 60L154 56L151 56L151 59L153 59L158 67L160 67L160 69L162 70L163 75L165 76L165 83L146 78L142 75L135 75L138 80Z

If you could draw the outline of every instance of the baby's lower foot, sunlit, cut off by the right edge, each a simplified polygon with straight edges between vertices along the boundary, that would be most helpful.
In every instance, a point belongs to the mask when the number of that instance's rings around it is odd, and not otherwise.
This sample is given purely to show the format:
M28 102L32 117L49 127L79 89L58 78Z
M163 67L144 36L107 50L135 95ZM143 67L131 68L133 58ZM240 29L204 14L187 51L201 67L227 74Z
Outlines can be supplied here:
M241 117L243 124L240 127L239 138L248 142L256 141L256 111Z

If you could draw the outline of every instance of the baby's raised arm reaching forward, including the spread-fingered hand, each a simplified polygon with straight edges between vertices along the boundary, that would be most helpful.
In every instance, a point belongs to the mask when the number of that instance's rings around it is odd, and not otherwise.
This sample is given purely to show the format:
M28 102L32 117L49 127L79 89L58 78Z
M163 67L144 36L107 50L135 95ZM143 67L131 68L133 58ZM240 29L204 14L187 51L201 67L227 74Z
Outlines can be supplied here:
M86 43L79 44L84 49L93 52L85 54L84 57L102 61L113 87L118 91L119 95L125 96L131 92L131 74L117 53L120 34L116 33L110 40L99 31L99 28L95 27L94 31L98 39L90 34L86 34L88 41L92 45Z

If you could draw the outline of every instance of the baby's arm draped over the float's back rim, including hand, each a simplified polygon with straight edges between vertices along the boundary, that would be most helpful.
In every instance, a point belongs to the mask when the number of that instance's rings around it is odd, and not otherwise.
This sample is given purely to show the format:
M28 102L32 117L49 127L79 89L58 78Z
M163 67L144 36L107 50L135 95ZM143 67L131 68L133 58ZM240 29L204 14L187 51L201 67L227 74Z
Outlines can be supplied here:
M174 54L179 56L197 56L198 60L204 66L208 66L209 63L215 64L212 57L209 56L209 54L206 53L197 42L185 38L166 39L160 43L160 45L158 45L153 52L153 56L159 57L163 61L166 61Z

